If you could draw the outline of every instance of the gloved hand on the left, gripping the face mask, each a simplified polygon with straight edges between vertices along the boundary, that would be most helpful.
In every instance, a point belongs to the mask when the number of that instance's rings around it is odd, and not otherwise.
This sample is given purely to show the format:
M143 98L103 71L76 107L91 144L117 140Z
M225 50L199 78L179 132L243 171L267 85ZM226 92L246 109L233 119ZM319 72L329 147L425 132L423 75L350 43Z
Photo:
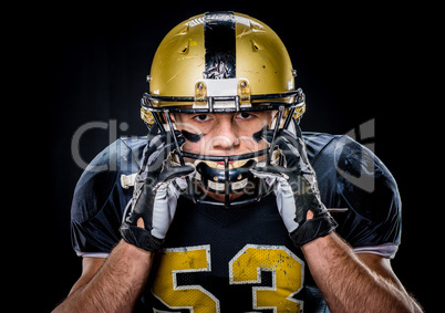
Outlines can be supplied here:
M153 137L153 136L152 136ZM179 146L184 138L178 138ZM168 167L175 148L169 132L155 135L144 150L133 198L121 226L124 240L147 251L159 249L176 212L177 199L195 173L192 164Z

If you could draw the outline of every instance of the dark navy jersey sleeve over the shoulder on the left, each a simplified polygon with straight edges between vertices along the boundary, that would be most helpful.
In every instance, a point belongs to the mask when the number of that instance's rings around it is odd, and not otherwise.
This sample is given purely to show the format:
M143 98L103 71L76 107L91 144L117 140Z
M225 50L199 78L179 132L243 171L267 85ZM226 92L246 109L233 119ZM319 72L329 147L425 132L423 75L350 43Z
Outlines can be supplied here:
M77 255L106 255L120 241L120 226L133 188L122 175L138 171L138 159L122 139L101 152L82 174L71 207L71 239Z

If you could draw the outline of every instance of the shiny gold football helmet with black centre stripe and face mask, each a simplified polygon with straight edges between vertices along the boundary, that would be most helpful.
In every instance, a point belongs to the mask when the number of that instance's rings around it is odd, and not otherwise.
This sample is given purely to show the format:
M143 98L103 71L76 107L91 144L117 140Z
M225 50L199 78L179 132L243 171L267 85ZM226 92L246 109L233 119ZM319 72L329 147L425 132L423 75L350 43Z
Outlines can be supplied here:
M155 54L148 80L151 92L144 94L141 112L148 126L156 123L161 132L172 132L176 143L173 166L195 164L197 174L186 197L195 202L237 207L259 201L270 192L269 186L249 169L259 163L280 161L275 137L280 128L292 128L304 112L304 95L300 88L294 90L293 76L278 35L247 15L206 13L167 34ZM270 118L260 129L248 129L247 140L257 145L237 154L205 147L188 149L201 140L200 129L172 118L242 113L270 113ZM270 143L261 137L267 131L273 133ZM178 136L186 139L182 147Z

